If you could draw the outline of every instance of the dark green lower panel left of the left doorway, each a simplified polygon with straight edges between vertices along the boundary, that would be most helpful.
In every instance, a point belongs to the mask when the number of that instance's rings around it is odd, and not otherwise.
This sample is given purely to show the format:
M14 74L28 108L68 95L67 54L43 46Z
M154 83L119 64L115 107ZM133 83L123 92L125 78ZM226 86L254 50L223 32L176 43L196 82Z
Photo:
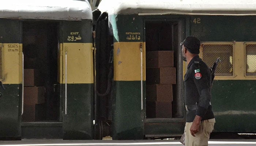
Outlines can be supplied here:
M0 137L21 137L21 90L22 85L4 84L0 88Z

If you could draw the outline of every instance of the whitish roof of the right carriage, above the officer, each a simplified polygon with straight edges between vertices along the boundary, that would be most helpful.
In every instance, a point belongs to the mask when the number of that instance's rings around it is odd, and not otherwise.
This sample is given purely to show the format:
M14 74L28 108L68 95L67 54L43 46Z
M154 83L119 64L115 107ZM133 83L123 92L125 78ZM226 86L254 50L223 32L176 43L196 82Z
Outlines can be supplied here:
M255 0L102 0L101 12L138 15L256 15Z

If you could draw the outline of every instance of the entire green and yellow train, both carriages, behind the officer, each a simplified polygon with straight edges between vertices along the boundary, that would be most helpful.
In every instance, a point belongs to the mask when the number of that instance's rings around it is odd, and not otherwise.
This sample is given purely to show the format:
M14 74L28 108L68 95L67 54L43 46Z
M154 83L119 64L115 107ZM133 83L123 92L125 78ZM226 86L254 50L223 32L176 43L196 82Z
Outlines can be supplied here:
M26 2L1 5L0 78L5 87L0 97L1 139L181 136L186 64L179 43L188 35L200 38L200 56L209 66L217 57L222 59L212 88L215 132L256 131L256 43L251 25L255 4L102 1L103 13L94 11L92 21L87 1ZM154 118L152 113L160 110L152 110L156 107L148 103L152 76L147 54L153 51L173 53L169 67L175 70L165 73L174 78L171 88L164 90L172 90L171 104L163 106L168 117ZM28 69L41 73L41 84L25 83ZM35 121L24 118L25 91L31 87L45 89L44 103L29 105L37 112L41 109L40 116L34 112L39 118ZM252 122L242 124L248 120Z

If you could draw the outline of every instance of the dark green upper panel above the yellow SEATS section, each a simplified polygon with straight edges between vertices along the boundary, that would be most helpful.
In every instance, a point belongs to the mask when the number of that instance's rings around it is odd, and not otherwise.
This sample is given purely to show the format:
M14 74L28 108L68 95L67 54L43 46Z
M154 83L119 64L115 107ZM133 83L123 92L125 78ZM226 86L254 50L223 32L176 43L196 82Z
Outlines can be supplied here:
M0 43L20 43L19 20L0 19Z

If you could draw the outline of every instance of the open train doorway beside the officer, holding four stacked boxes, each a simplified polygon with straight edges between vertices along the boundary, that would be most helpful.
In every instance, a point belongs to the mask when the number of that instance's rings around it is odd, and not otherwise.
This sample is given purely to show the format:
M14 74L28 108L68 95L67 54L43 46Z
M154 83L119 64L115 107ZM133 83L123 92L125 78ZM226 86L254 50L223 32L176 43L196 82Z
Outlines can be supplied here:
M182 22L146 21L146 118L182 118Z

